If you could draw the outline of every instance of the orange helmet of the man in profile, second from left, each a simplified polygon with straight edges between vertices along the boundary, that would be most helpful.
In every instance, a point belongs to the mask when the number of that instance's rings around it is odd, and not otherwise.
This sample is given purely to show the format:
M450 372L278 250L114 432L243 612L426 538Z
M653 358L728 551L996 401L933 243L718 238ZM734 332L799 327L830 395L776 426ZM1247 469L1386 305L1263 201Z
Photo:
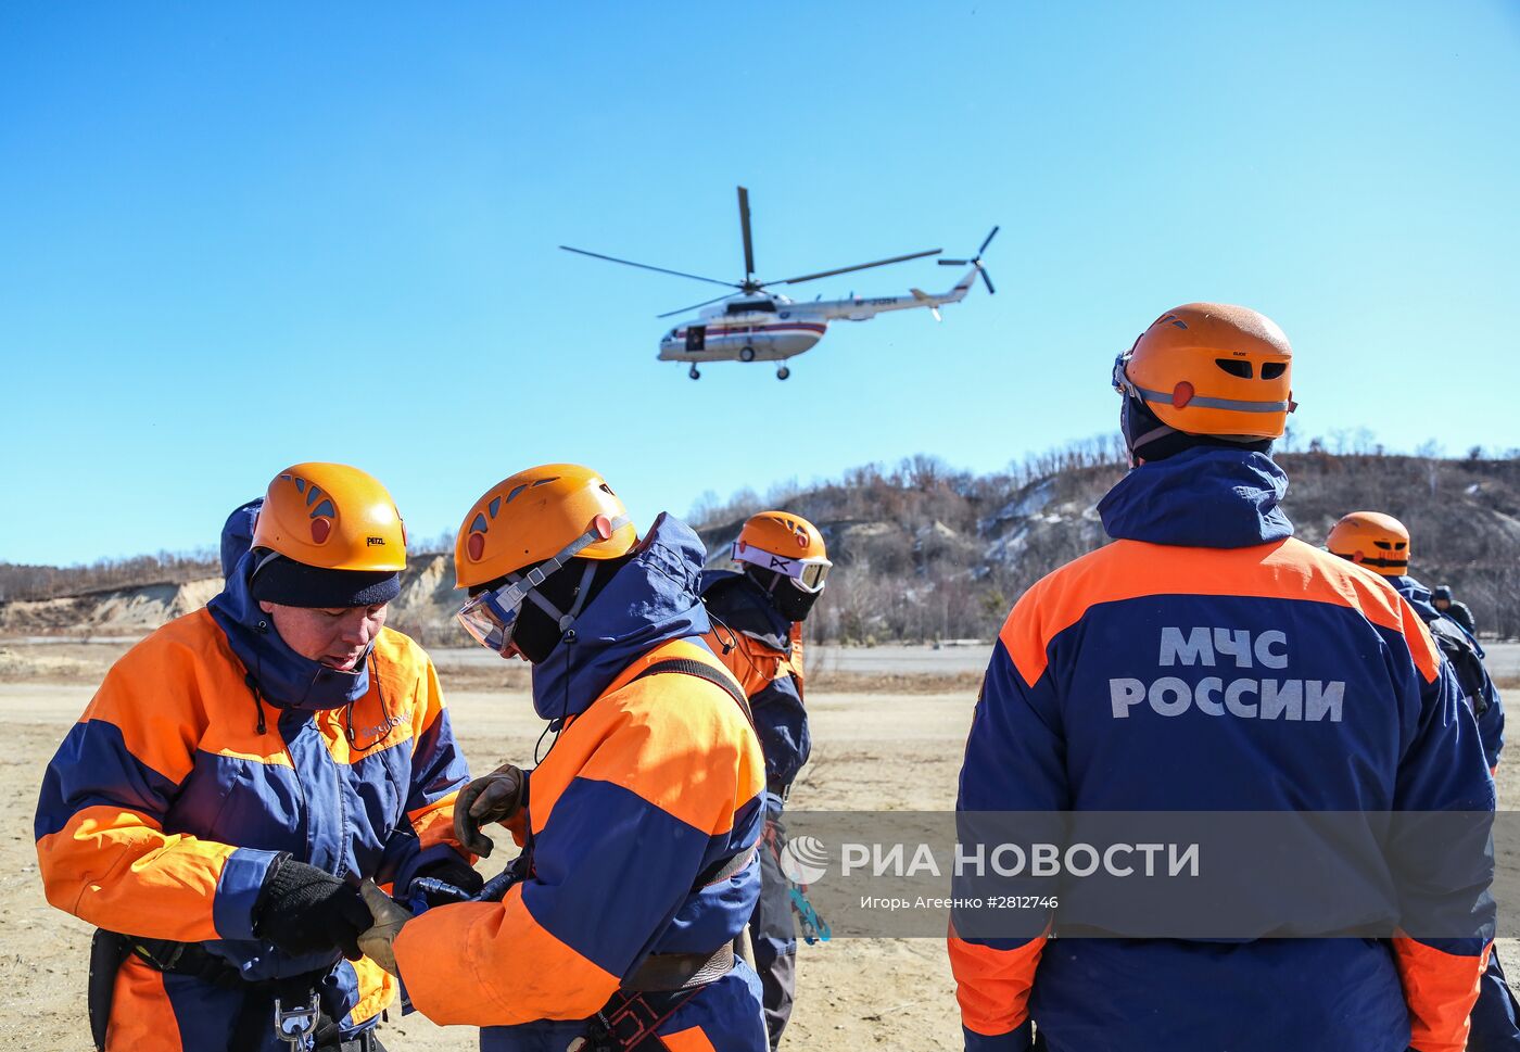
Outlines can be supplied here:
M616 559L637 541L628 509L600 474L546 464L503 479L474 503L454 540L454 576L458 587L474 588L555 556Z

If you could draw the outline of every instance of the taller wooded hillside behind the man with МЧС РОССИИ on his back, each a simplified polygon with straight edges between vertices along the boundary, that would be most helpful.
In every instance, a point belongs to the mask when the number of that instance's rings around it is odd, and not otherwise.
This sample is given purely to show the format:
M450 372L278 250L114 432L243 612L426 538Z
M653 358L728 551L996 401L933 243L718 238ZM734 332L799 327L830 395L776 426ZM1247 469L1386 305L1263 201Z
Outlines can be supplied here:
M1484 631L1520 635L1520 458L1284 453L1284 511L1310 544L1348 511L1383 511L1412 534L1412 572L1450 584ZM1097 502L1125 473L1111 447L1073 447L996 476L918 458L765 500L743 494L698 518L728 550L746 514L784 506L816 523L838 564L818 610L841 640L986 638L1014 599L1104 544Z

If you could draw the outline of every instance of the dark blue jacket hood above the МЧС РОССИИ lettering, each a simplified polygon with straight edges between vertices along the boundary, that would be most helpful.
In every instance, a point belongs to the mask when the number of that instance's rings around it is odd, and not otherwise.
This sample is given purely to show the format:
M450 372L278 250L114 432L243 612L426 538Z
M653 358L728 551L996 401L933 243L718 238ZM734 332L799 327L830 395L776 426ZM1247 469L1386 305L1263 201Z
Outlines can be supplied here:
M1287 476L1266 453L1198 447L1134 468L1097 514L1114 540L1251 547L1294 535L1278 506Z

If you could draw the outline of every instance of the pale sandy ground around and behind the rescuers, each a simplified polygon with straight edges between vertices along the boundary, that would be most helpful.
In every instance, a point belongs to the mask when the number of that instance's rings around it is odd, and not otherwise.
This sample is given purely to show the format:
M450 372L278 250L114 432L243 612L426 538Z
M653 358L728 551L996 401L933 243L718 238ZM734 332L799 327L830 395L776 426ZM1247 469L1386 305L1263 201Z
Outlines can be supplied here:
M32 815L43 769L88 701L105 666L125 649L108 645L0 642L0 736L11 762L0 766L0 1046L17 1050L88 1049L84 1009L90 929L43 898L32 847ZM473 654L441 652L454 727L474 771L526 762L541 724L517 673L479 666ZM938 810L953 807L961 748L974 686L985 661L976 648L892 648L871 664L868 651L841 651L818 663L809 698L813 762L793 787L792 806L810 810ZM974 658L971 655L976 655ZM1517 663L1520 646L1502 649ZM889 673L872 680L871 673ZM956 683L938 693L883 692L880 683L927 673L923 684ZM456 683L459 689L450 689ZM500 683L502 686L497 686ZM839 684L825 689L828 683ZM488 686L489 684L489 686ZM502 689L511 684L511 689ZM860 690L850 684L865 684ZM866 692L869 690L869 692ZM1520 765L1500 778L1500 804L1520 806ZM496 865L483 863L491 873ZM1517 958L1514 941L1505 956ZM953 1049L959 1019L941 940L836 940L803 946L800 997L786 1046L793 1049ZM394 1017L392 1017L394 1019ZM392 1022L392 1052L465 1052L470 1028L438 1028L420 1016Z

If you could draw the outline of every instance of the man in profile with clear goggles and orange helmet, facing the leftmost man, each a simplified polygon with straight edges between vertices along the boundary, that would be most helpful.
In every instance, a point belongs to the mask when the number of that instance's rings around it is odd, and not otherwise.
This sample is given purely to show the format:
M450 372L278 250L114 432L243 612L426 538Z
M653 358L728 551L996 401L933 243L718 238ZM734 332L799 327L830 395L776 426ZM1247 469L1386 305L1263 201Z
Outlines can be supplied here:
M505 479L459 529L459 619L534 666L558 736L534 771L502 768L461 807L467 842L505 821L523 845L505 897L409 918L366 889L360 943L435 1022L489 1028L488 1052L766 1047L760 982L731 946L760 889L765 760L701 638L702 561L669 515L638 540L573 464Z

